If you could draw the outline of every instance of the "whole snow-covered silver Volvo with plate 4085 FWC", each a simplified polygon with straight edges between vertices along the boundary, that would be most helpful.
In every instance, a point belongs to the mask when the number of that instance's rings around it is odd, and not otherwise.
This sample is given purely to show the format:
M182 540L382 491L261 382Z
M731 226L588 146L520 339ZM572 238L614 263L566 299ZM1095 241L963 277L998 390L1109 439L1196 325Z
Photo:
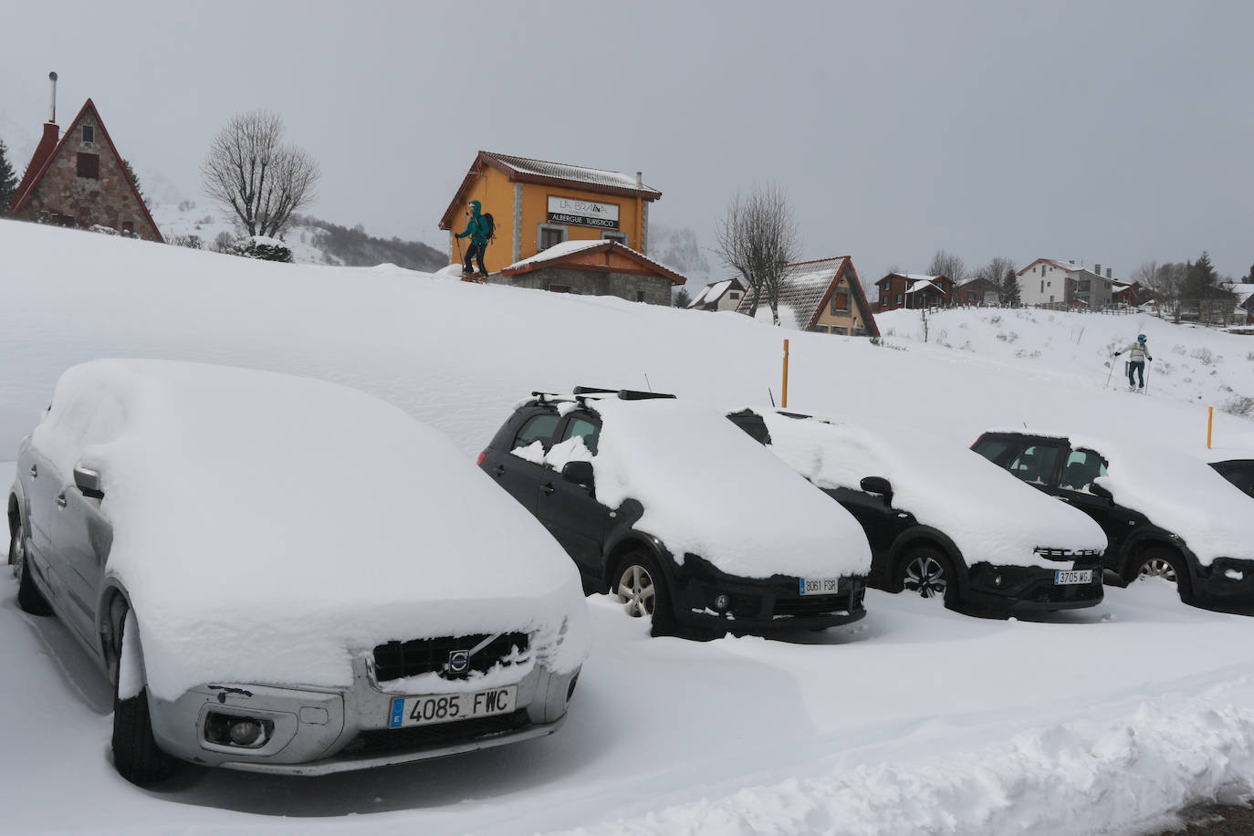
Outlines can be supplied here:
M8 508L19 603L112 681L135 783L178 760L324 775L549 734L587 653L578 574L535 520L342 386L75 366Z

